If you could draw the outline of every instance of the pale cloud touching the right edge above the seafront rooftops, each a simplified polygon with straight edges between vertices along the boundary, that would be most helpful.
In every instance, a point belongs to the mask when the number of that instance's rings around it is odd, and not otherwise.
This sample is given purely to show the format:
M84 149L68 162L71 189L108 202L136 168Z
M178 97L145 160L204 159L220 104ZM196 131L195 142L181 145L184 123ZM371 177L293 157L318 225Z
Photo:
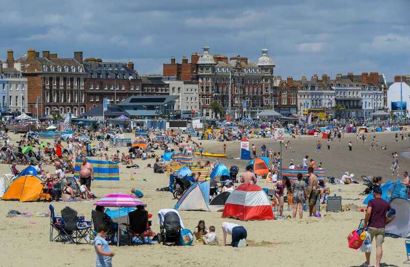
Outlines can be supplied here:
M370 53L408 53L410 47L410 37L406 35L399 35L389 33L386 35L379 35L373 38L371 43L365 43L361 45L363 51Z

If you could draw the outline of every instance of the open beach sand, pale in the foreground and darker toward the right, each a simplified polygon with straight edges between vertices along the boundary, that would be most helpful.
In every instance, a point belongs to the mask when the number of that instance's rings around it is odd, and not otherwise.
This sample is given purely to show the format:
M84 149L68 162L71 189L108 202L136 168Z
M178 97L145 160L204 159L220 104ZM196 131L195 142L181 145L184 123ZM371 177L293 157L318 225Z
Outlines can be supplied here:
M355 174L360 181L361 175L381 175L384 180L397 179L390 176L391 153L407 151L410 142L394 140L394 133L379 133L379 147L387 144L386 151L369 151L370 141L373 134L367 134L366 143L357 143L356 137L345 134L344 138L334 141L331 151L325 151L326 140L322 142L322 153L315 154L318 138L302 137L292 139L294 152L286 152L283 148L284 166L288 166L290 159L296 164L301 164L302 158L309 155L316 163L323 162L327 175L339 178L345 171ZM13 136L13 135L12 135ZM131 136L131 135L130 135ZM18 140L13 136L13 141ZM196 138L194 138L195 141ZM353 151L347 148L348 140L352 140ZM209 152L222 152L222 142L201 140L204 150ZM230 157L239 157L239 141L226 142L227 153ZM279 150L279 142L273 139L251 139L250 144L255 143L260 152L262 143L267 145L268 150L273 148ZM110 148L113 154L117 148ZM127 148L120 148L121 152ZM157 151L159 155L162 151ZM199 157L195 161L200 160ZM215 160L215 158L204 157L203 160ZM203 161L202 160L202 161ZM405 171L410 159L399 157L399 173ZM220 159L221 163L228 166L236 165L243 171L247 161L236 159ZM135 160L140 167L146 167L150 160ZM23 169L22 166L18 167ZM48 170L53 167L47 166ZM0 164L0 173L8 173L9 167ZM131 172L136 172L134 180L131 180ZM400 177L401 178L401 177ZM145 180L143 180L145 179ZM173 208L176 200L169 192L157 192L156 188L168 186L169 178L166 174L154 174L152 169L127 169L120 165L120 181L93 181L92 191L98 197L110 193L130 193L131 188L144 192L141 199L148 204L147 210L153 214L152 228L159 232L157 212L163 208ZM272 188L271 183L258 181L262 188ZM343 206L352 204L364 207L363 196L359 193L364 190L363 185L330 185L331 194L341 195ZM357 200L352 200L357 199ZM70 206L78 211L79 215L85 215L91 220L91 210L94 201L85 202L52 202L55 211ZM0 201L0 237L2 257L0 266L94 266L95 252L89 244L63 244L49 241L49 217L6 217L9 210L22 212L44 212L48 211L49 203L30 202L20 203L17 201ZM285 214L290 214L286 210ZM181 211L180 215L186 228L193 230L198 220L205 220L207 227L215 225L222 243L221 224L224 221L243 225L248 230L247 248L231 248L222 245L202 245L195 242L191 247L167 247L159 244L139 245L120 248L111 247L115 252L113 258L114 266L359 266L364 262L364 253L347 247L347 235L354 230L363 212L346 211L338 213L326 213L321 211L321 218L308 218L304 212L303 219L270 220L270 221L239 221L221 218L220 212L196 212ZM230 241L230 238L228 238ZM406 259L404 239L385 238L383 244L382 262L385 266L403 266ZM371 263L374 264L375 255L372 255Z

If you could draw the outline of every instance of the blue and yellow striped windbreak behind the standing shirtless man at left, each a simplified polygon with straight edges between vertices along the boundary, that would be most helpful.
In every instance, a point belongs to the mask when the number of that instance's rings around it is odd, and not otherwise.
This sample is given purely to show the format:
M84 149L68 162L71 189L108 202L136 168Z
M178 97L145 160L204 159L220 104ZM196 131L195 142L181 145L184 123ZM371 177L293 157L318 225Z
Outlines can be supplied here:
M118 162L88 159L94 168L94 180L119 181ZM75 160L74 177L78 179L81 159Z

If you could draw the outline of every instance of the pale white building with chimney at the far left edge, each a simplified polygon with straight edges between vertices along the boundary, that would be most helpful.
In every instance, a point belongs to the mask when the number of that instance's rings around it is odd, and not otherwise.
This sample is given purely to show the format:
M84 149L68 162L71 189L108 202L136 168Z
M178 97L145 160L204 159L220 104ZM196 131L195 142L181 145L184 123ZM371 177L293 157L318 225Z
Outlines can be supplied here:
M0 61L0 111L21 114L27 112L27 78L22 66L7 51L6 61Z

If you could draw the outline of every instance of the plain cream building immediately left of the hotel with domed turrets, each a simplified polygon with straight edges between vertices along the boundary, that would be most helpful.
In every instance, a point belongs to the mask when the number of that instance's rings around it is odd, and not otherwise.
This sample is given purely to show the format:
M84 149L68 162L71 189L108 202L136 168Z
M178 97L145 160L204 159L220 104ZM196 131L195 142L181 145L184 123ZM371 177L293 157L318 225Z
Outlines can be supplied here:
M179 96L175 110L181 111L182 118L191 117L194 110L199 110L199 86L195 81L169 80L170 95Z

